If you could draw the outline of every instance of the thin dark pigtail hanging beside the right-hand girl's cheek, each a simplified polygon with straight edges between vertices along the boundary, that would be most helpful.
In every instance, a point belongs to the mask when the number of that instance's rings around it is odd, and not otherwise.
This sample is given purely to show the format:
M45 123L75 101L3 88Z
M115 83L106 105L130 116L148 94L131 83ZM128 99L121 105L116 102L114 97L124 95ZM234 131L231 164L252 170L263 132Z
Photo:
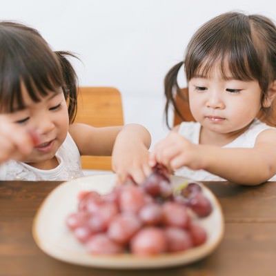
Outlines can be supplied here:
M170 104L172 104L174 110L181 117L181 119L184 119L175 102L176 94L178 94L180 97L183 97L183 93L181 93L181 88L179 88L179 85L177 83L177 75L183 64L184 64L184 61L181 61L177 63L175 66L173 66L168 71L164 79L165 96L166 96L165 115L166 115L166 125L168 126L168 128L170 128L170 125L168 123L168 110L170 108Z

